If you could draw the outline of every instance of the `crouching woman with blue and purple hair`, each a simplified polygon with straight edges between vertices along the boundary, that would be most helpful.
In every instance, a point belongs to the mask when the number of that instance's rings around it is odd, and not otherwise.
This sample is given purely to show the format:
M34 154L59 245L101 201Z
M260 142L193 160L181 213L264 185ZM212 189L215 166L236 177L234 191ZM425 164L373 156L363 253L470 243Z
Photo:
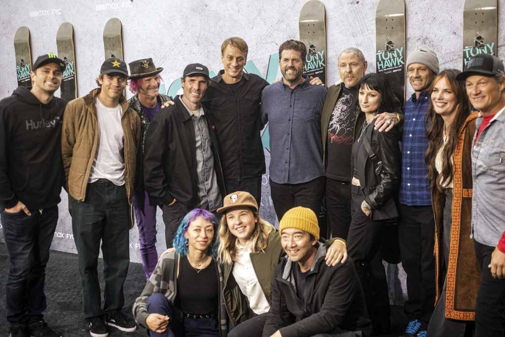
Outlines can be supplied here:
M151 337L226 336L217 231L218 221L209 211L194 209L182 219L175 252L158 261L133 305L135 321Z

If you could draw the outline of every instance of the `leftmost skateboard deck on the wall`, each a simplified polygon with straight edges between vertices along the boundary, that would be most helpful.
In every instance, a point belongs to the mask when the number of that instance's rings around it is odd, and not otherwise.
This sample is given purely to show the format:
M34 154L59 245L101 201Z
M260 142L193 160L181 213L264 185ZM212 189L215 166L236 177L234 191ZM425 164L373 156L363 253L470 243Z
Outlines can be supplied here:
M21 26L14 35L14 51L16 54L16 75L18 86L31 88L31 54L30 54L30 31L28 27Z

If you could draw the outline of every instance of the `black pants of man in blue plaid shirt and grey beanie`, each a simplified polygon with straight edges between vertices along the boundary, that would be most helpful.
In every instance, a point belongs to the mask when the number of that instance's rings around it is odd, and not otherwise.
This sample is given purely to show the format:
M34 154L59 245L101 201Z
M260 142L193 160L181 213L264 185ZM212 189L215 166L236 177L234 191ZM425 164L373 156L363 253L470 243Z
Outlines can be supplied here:
M431 206L400 204L398 239L401 265L407 273L405 314L424 328L435 305L435 218Z

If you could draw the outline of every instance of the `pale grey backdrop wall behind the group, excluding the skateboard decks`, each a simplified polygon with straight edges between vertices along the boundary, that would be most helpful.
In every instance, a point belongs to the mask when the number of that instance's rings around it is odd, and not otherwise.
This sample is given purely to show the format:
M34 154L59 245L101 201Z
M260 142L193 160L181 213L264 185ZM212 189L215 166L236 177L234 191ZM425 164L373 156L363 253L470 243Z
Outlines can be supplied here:
M287 39L299 39L298 19L305 0L277 1L210 1L210 0L91 0L61 2L46 0L7 0L0 14L0 97L12 94L18 79L26 77L26 64L30 60L16 57L15 34L18 28L29 30L31 60L46 53L58 54L57 35L65 22L73 26L75 57L69 57L71 71L65 77L75 76L77 97L95 87L95 78L104 61L104 28L111 18L122 24L123 58L129 63L142 58L152 58L157 67L163 67L161 92L176 94L180 89L180 76L189 63L202 63L214 74L222 69L221 43L231 36L242 37L249 46L245 70L256 73L272 82L280 77L278 47ZM340 79L337 57L346 47L358 47L368 60L368 71L376 72L375 15L378 0L323 0L326 12L326 56L319 52L317 66L325 66L327 85ZM440 69L463 65L463 0L445 2L443 8L436 0L406 0L406 45L398 51L405 57L417 45L430 46L437 54ZM505 5L498 1L498 8ZM450 15L448 15L450 14ZM498 12L498 32L504 31L503 12ZM64 25L68 29L68 24ZM63 28L62 28L63 30ZM20 33L23 33L20 31ZM480 36L482 38L482 36ZM481 43L478 38L475 43ZM60 43L60 42L59 42ZM386 42L387 43L387 42ZM467 49L467 54L492 52L491 45ZM387 48L387 46L386 46ZM497 56L505 56L503 36L498 34ZM463 51L463 52L462 52ZM315 53L314 57L318 54ZM61 57L61 56L60 56ZM399 58L398 64L405 62ZM315 61L315 62L316 62ZM383 65L379 66L379 68ZM379 69L381 70L381 69ZM213 76L211 74L211 76ZM407 99L413 93L406 82ZM69 94L58 90L56 95ZM131 93L127 90L126 97ZM261 216L278 226L273 210L268 184L270 162L268 127L262 131L267 172L263 175ZM76 253L68 212L68 196L64 190L59 205L60 218L52 249ZM165 250L164 224L158 210L158 252ZM0 224L1 226L1 224ZM0 231L3 242L3 232ZM130 231L130 259L140 262L138 231ZM402 304L405 296L405 273L399 265L385 264L391 302Z

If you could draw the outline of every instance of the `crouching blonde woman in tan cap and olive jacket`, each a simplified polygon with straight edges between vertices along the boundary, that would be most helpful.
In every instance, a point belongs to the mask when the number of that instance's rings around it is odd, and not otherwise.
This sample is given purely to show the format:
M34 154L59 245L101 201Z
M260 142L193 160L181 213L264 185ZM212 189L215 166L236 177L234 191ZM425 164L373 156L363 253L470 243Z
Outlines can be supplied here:
M260 218L258 204L248 192L224 198L219 227L218 261L223 265L223 297L233 329L229 336L261 336L270 309L270 284L284 256L279 232ZM345 262L345 241L334 238L326 263ZM239 325L240 324L240 325Z

